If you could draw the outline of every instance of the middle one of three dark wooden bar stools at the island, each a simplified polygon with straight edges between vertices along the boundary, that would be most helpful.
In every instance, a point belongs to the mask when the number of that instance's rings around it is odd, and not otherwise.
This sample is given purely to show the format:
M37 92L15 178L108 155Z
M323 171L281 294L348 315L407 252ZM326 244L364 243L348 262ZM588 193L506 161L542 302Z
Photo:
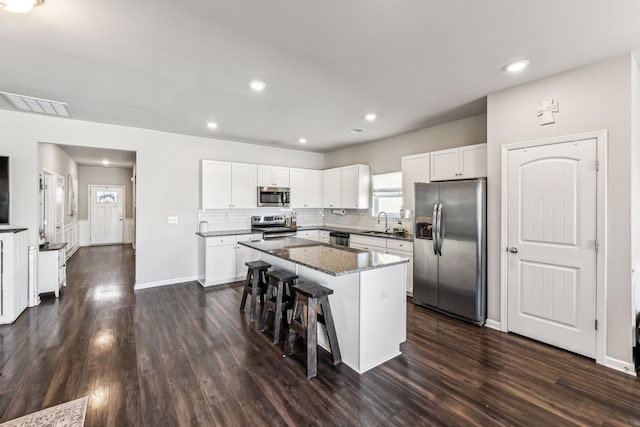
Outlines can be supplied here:
M267 272L267 292L264 307L262 308L262 319L260 319L260 332L264 331L267 325L267 316L273 312L275 319L273 325L273 343L280 342L280 320L284 320L287 326L287 310L293 308L293 281L298 275L286 270L276 270Z

